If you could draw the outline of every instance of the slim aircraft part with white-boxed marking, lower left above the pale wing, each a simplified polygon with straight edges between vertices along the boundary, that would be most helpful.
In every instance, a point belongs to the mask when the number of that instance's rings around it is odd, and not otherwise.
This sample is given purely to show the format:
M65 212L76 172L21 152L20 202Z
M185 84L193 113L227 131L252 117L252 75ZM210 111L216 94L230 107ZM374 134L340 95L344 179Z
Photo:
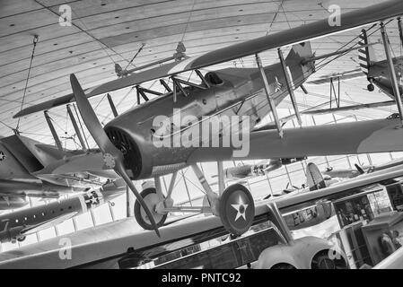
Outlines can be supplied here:
M126 185L116 187L112 182L102 190L92 190L78 196L24 208L0 215L0 242L23 241L27 235L65 222L75 215L110 202L126 192Z

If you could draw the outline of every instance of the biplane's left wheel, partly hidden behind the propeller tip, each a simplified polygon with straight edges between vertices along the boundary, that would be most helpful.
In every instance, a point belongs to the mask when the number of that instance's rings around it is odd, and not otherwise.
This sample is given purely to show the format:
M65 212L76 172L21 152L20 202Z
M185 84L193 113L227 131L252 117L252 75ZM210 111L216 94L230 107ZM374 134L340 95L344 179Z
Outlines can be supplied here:
M161 198L157 196L157 190L155 187L145 188L140 193L140 196L144 198L145 204L147 204L148 208L151 210L151 213L153 213L153 219L157 224L157 227L161 227L167 219L168 214L160 214L155 212L155 206L161 202ZM153 225L151 225L144 208L138 203L138 201L135 202L135 218L137 223L145 230L153 230Z

